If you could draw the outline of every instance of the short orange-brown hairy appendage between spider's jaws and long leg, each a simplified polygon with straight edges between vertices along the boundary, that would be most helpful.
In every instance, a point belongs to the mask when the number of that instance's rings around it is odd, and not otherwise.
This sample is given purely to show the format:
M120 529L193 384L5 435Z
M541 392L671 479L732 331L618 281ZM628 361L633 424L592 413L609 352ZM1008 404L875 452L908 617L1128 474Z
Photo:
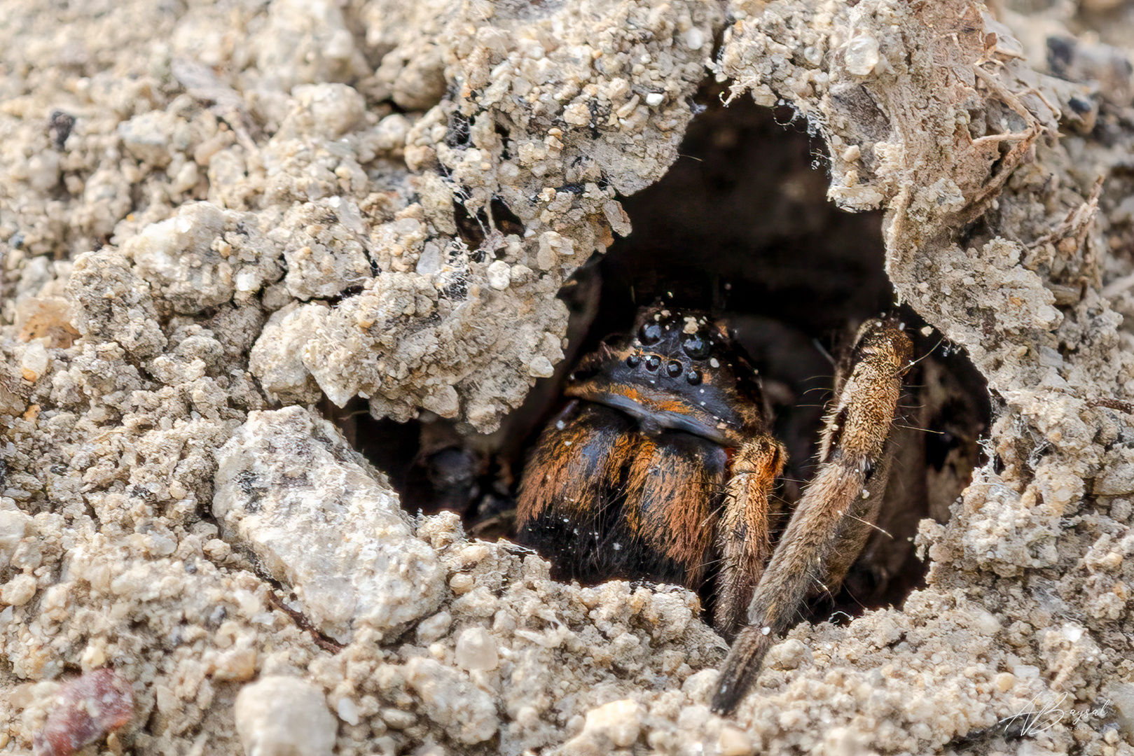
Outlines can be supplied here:
M729 640L745 625L752 592L771 554L768 498L786 461L784 444L771 436L746 442L733 458L717 526L721 561L713 610L713 626Z

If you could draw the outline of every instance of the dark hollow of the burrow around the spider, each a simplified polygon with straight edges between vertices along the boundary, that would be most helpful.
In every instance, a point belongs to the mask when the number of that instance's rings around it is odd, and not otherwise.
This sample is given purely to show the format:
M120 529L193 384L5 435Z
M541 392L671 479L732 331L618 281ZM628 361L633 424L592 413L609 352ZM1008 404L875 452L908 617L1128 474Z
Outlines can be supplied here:
M356 448L390 476L413 512L458 511L469 533L515 534L525 456L561 407L566 374L604 337L626 331L657 298L723 316L760 369L776 435L790 462L777 490L784 510L813 473L832 364L854 329L892 309L883 273L881 213L850 214L827 201L822 143L788 109L747 99L723 107L719 87L653 186L621 198L634 231L592 260L560 297L573 316L568 357L491 435L448 422L373 421L365 405L336 410ZM917 365L898 423L888 508L841 592L812 602L811 619L847 618L899 604L924 577L913 536L924 517L945 520L979 462L989 427L984 381L967 358L908 308ZM773 523L776 533L786 515ZM631 576L628 576L631 577Z

